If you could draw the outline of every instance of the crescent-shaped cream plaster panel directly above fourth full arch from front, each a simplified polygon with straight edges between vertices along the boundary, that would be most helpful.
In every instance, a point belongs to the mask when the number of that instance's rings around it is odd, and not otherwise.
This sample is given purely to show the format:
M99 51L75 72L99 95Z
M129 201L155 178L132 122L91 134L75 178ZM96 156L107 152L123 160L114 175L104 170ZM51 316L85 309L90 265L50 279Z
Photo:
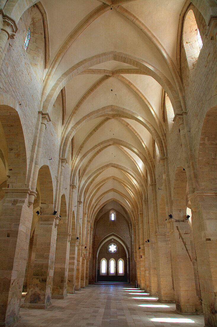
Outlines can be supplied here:
M89 159L87 159L86 162L83 164L81 171L83 171L83 168L86 163L89 163ZM88 178L88 176L90 176L92 172L94 172L98 168L101 168L102 166L108 165L110 163L122 165L138 175L136 166L127 157L127 155L125 155L118 147L109 146L102 150L100 154L97 155L90 163L87 170L85 170L84 176L82 176L82 181L86 180L86 178Z

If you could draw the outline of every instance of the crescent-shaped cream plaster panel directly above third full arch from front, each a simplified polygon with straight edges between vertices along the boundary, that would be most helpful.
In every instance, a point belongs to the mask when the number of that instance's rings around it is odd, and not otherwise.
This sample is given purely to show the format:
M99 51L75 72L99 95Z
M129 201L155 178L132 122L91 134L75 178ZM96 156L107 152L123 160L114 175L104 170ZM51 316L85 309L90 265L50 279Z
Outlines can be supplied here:
M86 151L96 144L110 139L122 140L129 143L143 153L144 148L135 136L126 126L116 119L108 120L94 135L87 141L83 147L80 156L84 155Z

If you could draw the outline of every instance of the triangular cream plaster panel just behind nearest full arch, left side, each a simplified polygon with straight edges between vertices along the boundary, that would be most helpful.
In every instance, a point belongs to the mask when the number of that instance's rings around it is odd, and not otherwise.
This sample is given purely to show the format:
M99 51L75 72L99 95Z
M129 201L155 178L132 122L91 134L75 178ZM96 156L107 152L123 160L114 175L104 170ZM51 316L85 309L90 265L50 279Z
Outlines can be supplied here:
M66 119L86 91L100 79L100 75L79 75L70 80L65 86L66 95Z

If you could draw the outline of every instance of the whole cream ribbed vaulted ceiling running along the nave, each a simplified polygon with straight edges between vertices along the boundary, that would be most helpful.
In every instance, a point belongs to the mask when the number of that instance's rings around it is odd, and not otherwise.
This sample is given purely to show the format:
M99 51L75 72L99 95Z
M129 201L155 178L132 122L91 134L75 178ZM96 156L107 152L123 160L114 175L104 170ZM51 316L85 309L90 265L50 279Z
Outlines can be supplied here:
M134 221L147 176L155 182L152 138L161 157L167 151L162 87L178 111L176 41L184 0L41 3L50 40L44 107L65 87L60 155L67 156L74 136L71 183L79 183L92 219L116 201Z

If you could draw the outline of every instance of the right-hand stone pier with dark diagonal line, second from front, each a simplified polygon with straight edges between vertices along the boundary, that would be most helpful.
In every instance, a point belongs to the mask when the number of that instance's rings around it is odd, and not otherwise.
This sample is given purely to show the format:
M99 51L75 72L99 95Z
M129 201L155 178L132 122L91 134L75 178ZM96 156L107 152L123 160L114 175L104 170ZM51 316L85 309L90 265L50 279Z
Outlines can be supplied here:
M187 221L177 222L172 218L167 221L167 226L170 233L176 309L183 313L199 313L202 306L195 288L189 224Z

